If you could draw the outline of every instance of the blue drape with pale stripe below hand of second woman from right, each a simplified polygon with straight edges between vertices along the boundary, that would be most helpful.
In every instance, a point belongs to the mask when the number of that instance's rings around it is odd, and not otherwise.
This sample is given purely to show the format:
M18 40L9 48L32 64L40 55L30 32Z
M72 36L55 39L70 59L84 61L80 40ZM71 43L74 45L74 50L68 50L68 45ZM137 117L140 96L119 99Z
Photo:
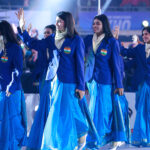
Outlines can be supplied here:
M113 95L112 137L113 141L130 143L128 102L124 95Z

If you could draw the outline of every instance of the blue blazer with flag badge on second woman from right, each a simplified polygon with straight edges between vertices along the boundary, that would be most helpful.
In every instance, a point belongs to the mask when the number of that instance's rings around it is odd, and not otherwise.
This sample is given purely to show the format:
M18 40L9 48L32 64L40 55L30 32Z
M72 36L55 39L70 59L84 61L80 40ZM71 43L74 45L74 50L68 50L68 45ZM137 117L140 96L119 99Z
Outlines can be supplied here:
M86 54L89 51L93 52L92 38L93 35L89 35L84 40ZM119 42L113 37L109 39L104 38L94 55L93 79L101 84L112 84L115 81L116 88L123 88Z

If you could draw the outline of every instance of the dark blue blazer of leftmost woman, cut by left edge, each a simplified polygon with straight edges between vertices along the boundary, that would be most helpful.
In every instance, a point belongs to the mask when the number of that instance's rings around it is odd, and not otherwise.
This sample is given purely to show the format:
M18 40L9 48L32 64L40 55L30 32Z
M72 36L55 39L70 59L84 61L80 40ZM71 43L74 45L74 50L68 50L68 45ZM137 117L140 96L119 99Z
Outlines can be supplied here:
M14 93L21 89L21 74L23 70L22 49L17 44L7 43L6 57L4 52L0 53L0 91L8 90Z

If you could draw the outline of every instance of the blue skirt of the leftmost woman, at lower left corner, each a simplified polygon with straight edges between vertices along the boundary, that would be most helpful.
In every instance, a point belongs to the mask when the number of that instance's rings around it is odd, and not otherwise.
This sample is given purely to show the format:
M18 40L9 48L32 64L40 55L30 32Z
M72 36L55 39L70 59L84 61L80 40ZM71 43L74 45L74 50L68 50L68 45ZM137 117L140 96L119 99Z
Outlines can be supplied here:
M0 150L18 150L26 145L27 118L24 94L16 91L10 97L0 92Z

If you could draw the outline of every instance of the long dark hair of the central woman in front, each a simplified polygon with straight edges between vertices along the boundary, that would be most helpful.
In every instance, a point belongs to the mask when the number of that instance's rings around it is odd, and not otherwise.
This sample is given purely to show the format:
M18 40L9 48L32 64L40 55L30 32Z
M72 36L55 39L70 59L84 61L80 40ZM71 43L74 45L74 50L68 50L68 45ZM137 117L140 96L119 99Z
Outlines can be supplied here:
M66 37L72 38L74 35L78 35L78 32L75 29L74 18L70 12L61 11L57 16L65 22L65 28L67 28Z

